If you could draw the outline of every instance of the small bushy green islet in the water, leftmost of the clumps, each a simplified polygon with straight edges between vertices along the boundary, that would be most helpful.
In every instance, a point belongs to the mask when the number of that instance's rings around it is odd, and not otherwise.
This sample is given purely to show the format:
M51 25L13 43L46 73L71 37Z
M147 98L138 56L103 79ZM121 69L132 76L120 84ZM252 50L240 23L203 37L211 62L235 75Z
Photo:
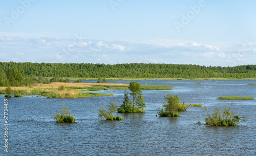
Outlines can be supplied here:
M70 122L70 123L76 122L76 119L71 116L70 110L68 110L65 107L65 104L63 104L61 107L61 114L56 113L53 116L56 122Z

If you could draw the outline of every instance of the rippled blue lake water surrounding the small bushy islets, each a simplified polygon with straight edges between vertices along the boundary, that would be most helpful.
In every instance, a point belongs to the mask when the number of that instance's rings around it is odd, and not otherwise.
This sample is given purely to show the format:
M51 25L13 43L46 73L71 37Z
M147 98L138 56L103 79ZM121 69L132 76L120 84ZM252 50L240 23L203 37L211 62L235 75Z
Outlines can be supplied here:
M83 82L96 82L84 80ZM129 80L107 81L129 83ZM256 98L255 80L138 80L147 85L173 85L171 91L143 91L146 113L118 114L123 121L98 118L99 106L112 100L122 103L123 90L96 91L114 96L79 99L8 98L9 152L6 155L256 155L256 100L218 100L220 96ZM202 84L191 84L202 83ZM188 107L180 117L156 117L163 96L179 95L185 103L200 103L212 112L215 106L232 105L236 115L247 116L233 127L210 127L203 107ZM1 114L4 114L4 95ZM56 123L62 103L76 123ZM197 124L201 121L201 124ZM2 127L4 119L2 118ZM2 129L1 142L4 143Z

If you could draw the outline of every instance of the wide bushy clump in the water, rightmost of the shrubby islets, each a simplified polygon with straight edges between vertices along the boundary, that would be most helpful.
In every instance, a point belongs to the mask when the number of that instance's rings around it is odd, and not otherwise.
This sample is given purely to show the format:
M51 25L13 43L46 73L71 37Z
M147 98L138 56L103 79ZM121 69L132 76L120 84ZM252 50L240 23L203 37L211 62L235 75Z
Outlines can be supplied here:
M204 110L207 112L205 123L210 126L235 126L236 124L240 124L240 120L242 122L245 121L245 117L239 117L238 115L234 115L234 112L230 111L229 108L221 107L219 110L218 107L215 107L214 113L209 114L207 107L204 107Z

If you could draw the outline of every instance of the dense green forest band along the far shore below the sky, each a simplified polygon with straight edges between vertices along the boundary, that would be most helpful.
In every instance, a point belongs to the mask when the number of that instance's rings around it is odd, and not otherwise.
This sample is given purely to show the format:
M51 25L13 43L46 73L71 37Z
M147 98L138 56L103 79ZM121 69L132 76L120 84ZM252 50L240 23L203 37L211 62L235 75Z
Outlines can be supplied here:
M12 70L15 71L12 72ZM18 72L17 72L18 71ZM0 62L0 79L13 75L17 83L22 77L76 78L256 78L256 65L234 67L193 64L93 64L93 63L16 63ZM17 75L20 73L21 75Z

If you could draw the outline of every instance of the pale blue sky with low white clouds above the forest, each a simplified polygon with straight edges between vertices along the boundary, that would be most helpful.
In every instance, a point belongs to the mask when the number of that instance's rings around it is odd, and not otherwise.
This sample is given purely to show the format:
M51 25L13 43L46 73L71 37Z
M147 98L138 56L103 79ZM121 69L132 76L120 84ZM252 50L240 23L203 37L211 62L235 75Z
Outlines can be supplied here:
M256 1L0 0L0 62L256 64Z

